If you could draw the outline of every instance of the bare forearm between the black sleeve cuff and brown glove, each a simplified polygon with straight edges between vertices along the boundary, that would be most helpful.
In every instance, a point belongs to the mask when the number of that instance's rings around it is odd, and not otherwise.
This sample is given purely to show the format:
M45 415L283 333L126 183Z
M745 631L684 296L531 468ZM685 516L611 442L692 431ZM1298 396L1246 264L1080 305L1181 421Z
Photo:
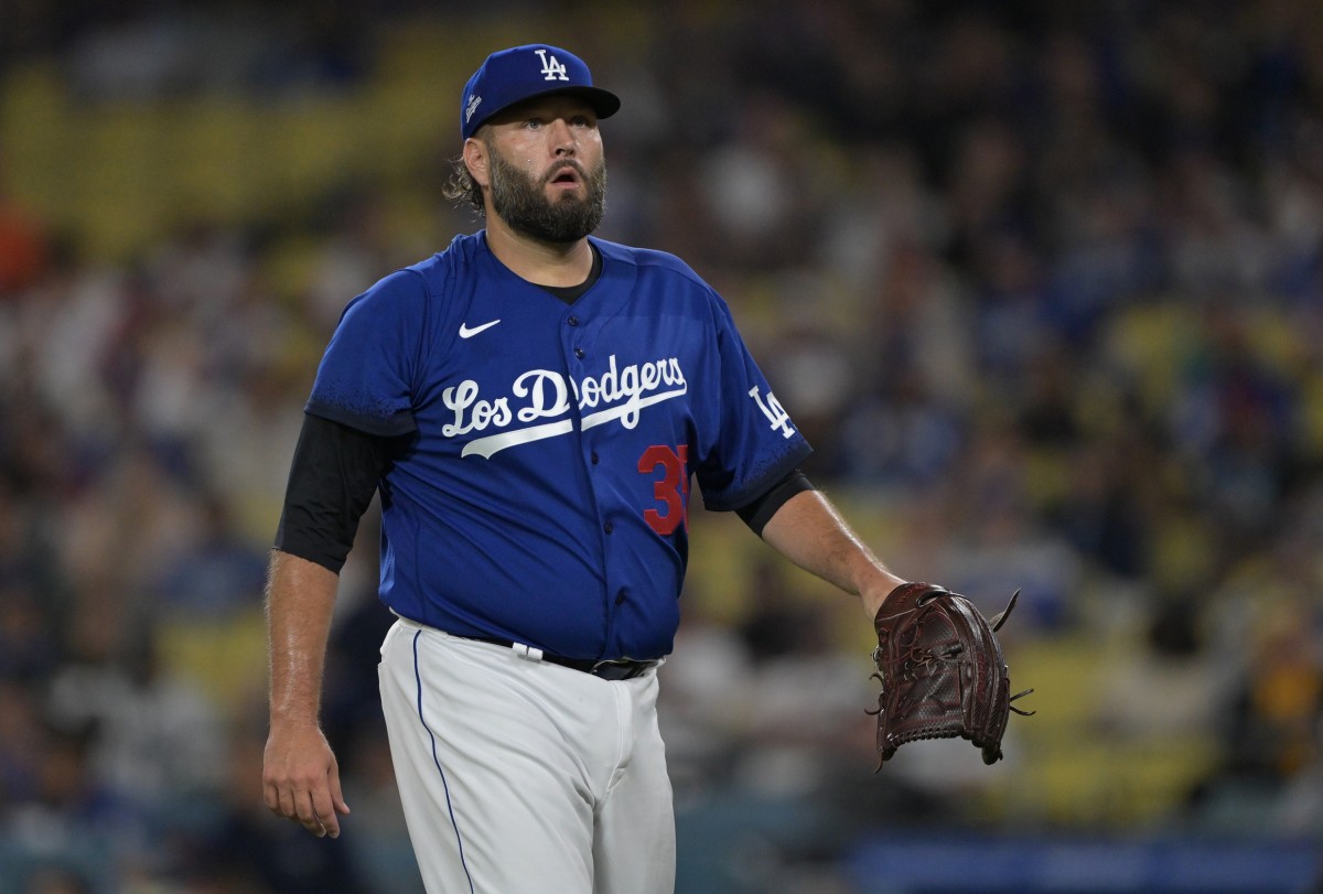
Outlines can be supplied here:
M819 491L803 491L786 501L767 521L762 537L799 567L859 595L869 616L893 587L905 583Z

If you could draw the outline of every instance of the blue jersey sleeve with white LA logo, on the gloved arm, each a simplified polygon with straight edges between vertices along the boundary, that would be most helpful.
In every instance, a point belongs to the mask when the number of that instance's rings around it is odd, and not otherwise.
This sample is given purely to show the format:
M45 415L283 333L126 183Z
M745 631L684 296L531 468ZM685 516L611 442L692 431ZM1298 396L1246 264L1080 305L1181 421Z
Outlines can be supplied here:
M708 369L717 391L712 403L714 434L700 439L695 477L704 507L716 512L738 509L794 472L812 447L795 428L790 414L773 394L736 329L730 309L714 298L716 357Z

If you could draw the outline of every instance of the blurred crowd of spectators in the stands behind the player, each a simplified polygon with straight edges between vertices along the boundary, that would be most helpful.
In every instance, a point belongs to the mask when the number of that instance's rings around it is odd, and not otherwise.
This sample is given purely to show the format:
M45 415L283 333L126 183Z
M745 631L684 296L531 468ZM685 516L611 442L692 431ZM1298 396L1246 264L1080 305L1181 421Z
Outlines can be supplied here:
M475 15L46 5L5 4L0 77L53 60L87 103L352 91L386 24ZM602 235L725 295L810 476L900 574L990 611L1020 587L1012 655L1119 635L1040 747L1193 738L1207 772L1158 821L1323 832L1323 8L732 0L615 29L610 9L507 29L624 98ZM483 15L501 33L523 12ZM418 890L376 706L373 516L328 668L355 809L336 842L262 805L261 591L340 308L479 226L439 196L458 138L435 143L411 239L364 180L103 258L17 198L0 132L0 894ZM291 245L312 263L288 290ZM857 608L692 516L663 668L681 891L847 890L747 866L830 866L864 827L1062 821L971 793L1035 779L1013 739L1000 770L931 743L869 776ZM728 542L751 544L722 555L738 573L699 558ZM1044 711L1012 737L1031 723L1061 729Z

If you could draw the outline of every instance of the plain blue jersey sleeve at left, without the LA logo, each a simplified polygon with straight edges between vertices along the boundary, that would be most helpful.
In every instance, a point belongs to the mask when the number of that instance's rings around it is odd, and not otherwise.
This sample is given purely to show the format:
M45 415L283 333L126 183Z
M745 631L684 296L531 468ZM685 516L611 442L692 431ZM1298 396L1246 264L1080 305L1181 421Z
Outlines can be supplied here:
M421 275L398 271L353 299L340 317L306 411L365 431L413 431L413 395L427 320Z

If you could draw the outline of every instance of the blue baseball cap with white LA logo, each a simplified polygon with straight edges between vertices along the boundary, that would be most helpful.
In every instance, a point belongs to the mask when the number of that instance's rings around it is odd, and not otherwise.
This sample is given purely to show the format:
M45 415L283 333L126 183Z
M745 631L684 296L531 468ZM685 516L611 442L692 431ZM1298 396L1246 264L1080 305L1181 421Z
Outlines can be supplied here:
M467 140L496 112L557 93L587 101L598 118L610 118L620 108L619 97L593 86L583 60L558 46L529 44L492 53L468 78L459 101L459 132Z

